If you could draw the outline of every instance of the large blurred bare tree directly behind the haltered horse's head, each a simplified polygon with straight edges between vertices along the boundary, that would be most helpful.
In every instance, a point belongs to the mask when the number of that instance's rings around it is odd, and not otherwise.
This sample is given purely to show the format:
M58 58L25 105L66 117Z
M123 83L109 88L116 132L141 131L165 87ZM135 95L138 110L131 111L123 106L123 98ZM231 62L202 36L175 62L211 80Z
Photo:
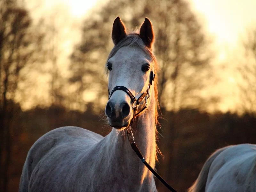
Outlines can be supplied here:
M169 110L205 107L207 99L201 97L200 90L211 76L212 55L206 48L208 41L200 24L183 0L109 1L88 17L84 21L82 41L71 55L70 83L77 84L79 103L83 103L83 92L92 87L97 87L96 98L104 95L100 87L107 84L99 71L103 71L107 53L113 46L109 34L117 15L128 28L137 26L144 17L149 17L154 24L155 53L162 69L159 74L161 106ZM95 76L98 78L93 78Z

